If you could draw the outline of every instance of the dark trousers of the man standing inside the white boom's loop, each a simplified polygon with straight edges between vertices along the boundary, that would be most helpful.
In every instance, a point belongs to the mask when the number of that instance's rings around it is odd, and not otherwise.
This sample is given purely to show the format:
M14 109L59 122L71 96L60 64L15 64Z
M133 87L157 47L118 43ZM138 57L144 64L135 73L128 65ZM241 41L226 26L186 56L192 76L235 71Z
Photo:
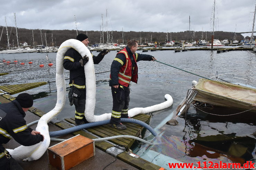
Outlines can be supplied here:
M75 121L77 124L82 123L83 121L85 123L88 123L88 121L85 119L85 100L86 100L86 90L79 90L81 92L81 95L78 98L73 98L74 105L76 108L75 111Z

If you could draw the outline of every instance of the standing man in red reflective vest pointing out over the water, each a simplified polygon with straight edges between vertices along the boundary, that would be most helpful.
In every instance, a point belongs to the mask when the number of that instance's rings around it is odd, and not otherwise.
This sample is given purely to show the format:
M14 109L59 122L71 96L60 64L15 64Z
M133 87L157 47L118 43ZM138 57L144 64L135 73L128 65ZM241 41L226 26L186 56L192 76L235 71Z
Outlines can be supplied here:
M129 83L138 81L137 62L154 61L153 56L135 53L138 41L130 40L127 46L119 51L111 64L109 86L111 86L113 97L113 108L111 114L111 126L117 129L126 129L120 118L128 117L128 106L130 101Z

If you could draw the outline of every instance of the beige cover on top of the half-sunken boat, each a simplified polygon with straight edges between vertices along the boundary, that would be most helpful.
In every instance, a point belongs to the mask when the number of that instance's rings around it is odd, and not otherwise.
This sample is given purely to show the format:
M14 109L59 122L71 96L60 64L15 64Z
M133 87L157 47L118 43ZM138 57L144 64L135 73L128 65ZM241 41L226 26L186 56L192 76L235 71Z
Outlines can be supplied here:
M193 89L196 101L256 111L256 89L207 79L199 79Z

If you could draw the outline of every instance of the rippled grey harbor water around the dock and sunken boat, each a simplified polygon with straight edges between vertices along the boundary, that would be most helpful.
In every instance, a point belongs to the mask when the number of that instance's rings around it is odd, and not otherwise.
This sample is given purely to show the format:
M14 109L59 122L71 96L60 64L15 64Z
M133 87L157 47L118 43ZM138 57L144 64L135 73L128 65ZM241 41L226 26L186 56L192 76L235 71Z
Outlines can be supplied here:
M218 71L219 74L233 73L240 78L247 78L246 76L256 78L256 53L253 51L230 51L219 54L216 51L137 52L150 54L161 62L203 77L210 78ZM92 53L98 54L97 52ZM99 64L95 64L95 72L110 70L115 55L116 51L111 51ZM14 59L18 60L18 64L0 65L1 72L11 72L8 75L0 76L0 85L55 80L56 53L48 53L48 57L53 63L52 67L47 66L48 62L45 56L46 53L0 54L0 61L3 58L10 62L13 62ZM33 64L28 64L29 60L32 60ZM25 62L24 66L19 64L21 61ZM45 66L40 68L40 64ZM150 126L161 133L162 141L161 144L151 147L150 150L178 161L194 163L198 160L243 162L255 158L256 138L251 135L256 132L255 114L243 113L243 119L209 117L191 108L185 117L177 119L178 126L168 126L162 121L177 108L186 96L188 88L192 87L192 81L198 81L200 77L152 61L140 61L138 67L138 84L133 83L131 86L130 109L164 102L165 94L170 94L174 100L173 106L170 108L153 113ZM69 72L66 70L65 77L69 77ZM109 72L96 74L96 115L111 113L112 96L108 80ZM68 82L69 80L66 81L67 87ZM254 87L256 87L255 83L252 84ZM34 107L44 112L54 108L57 98L55 82L50 83L50 88L47 84L26 92L33 95ZM12 96L16 97L17 95ZM58 115L58 119L63 120L73 116L74 106L69 106L67 97L66 105ZM159 127L160 123L163 125ZM141 146L141 148L144 147ZM166 167L168 163L157 161L159 159L157 155L145 158L162 167Z

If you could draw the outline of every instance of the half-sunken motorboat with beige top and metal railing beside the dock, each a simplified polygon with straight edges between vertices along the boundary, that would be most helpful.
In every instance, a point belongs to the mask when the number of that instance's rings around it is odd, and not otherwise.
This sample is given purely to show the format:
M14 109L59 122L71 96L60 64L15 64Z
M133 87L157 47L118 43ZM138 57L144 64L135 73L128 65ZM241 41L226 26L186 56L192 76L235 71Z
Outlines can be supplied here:
M217 80L212 80L213 78ZM235 80L244 82L234 82ZM219 74L210 79L202 78L193 81L193 87L188 89L186 98L176 109L175 119L185 113L190 105L200 108L204 112L207 112L207 109L213 110L214 108L222 108L220 110L229 108L239 113L256 112L256 87L250 85L249 82L256 83L256 79L253 77L238 78L232 73ZM204 110L201 106L207 107L207 109ZM226 113L221 114L225 115ZM220 113L215 115L221 116Z

